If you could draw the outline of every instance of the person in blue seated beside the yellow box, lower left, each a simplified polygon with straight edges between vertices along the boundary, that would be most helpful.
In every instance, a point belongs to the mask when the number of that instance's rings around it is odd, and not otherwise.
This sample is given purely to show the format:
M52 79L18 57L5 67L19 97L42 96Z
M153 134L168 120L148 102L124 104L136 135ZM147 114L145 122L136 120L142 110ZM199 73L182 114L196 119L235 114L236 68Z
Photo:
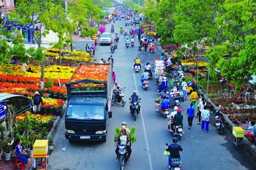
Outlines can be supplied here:
M17 168L21 168L22 163L31 162L28 154L22 149L21 143L22 143L22 140L20 138L17 138L16 158L22 160L20 163L17 163Z

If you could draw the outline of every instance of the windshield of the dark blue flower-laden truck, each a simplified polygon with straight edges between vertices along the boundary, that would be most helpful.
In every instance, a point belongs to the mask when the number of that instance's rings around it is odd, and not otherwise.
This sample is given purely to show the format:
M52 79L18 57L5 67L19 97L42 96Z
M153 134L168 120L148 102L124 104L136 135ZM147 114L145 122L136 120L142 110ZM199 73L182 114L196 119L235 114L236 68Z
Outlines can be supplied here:
M69 105L66 117L80 120L103 120L104 107L96 105Z

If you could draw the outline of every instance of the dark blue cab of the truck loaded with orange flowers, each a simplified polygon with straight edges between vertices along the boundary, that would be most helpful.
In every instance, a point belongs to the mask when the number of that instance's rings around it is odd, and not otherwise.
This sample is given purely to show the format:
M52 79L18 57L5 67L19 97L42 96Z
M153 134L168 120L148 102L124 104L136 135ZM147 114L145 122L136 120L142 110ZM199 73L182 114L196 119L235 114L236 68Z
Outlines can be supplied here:
M111 117L105 98L71 98L65 114L65 137L70 142L106 141L108 119Z

